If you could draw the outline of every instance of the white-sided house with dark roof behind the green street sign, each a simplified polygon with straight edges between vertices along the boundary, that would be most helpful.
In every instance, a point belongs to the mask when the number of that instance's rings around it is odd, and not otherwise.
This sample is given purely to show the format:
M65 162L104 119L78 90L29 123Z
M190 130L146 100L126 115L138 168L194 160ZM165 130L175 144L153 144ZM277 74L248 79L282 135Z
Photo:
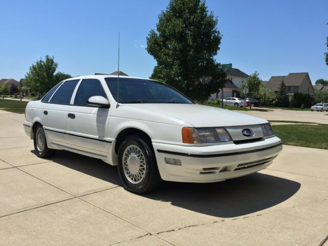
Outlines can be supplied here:
M245 81L249 75L245 74L237 68L228 68L226 70L228 81L223 87L223 99L228 97L239 97L239 88L243 81ZM218 92L214 93L210 97L213 100L222 99L222 90L219 89Z

